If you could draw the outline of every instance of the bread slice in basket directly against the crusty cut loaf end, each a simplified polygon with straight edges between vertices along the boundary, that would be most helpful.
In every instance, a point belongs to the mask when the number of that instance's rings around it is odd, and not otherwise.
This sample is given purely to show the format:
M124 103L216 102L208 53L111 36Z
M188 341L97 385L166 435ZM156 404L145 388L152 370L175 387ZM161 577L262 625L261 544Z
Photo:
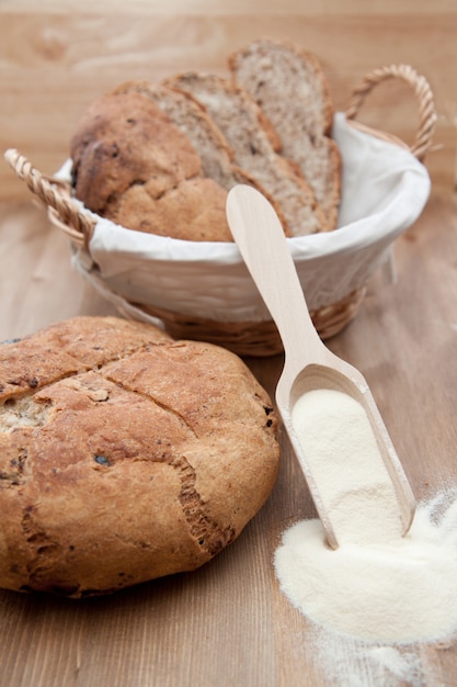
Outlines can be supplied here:
M276 200L253 176L236 165L233 153L230 150L227 140L204 108L194 98L168 86L153 85L146 80L122 83L113 92L137 92L155 102L192 143L199 156L205 177L215 181L226 191L229 191L238 183L245 183L256 188L275 207L286 236L290 235L284 214ZM210 202L210 195L208 195L207 201Z

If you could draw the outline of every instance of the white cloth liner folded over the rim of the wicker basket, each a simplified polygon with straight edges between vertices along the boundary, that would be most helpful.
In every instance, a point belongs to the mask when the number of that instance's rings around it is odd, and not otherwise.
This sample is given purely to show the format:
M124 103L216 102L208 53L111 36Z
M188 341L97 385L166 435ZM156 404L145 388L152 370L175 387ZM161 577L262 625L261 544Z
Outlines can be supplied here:
M425 167L408 148L358 131L343 113L335 114L332 135L343 161L339 228L287 239L310 311L367 282L419 217L431 189ZM137 318L150 319L140 309L149 305L219 322L271 319L235 244L155 236L99 217L89 254L78 249L72 261L104 297Z

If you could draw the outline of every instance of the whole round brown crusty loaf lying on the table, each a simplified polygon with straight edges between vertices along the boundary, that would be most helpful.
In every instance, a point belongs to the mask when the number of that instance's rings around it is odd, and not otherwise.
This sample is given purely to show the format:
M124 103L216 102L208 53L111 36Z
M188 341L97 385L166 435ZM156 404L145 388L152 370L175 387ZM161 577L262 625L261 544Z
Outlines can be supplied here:
M115 317L0 347L0 586L84 597L191 571L278 466L266 392L229 351Z

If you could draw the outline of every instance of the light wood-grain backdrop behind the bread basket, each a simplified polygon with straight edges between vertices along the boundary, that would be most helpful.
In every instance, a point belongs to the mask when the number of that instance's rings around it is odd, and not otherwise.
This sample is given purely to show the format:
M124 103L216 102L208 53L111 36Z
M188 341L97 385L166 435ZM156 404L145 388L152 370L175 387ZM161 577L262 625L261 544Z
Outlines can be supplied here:
M438 122L427 157L433 188L456 176L457 7L402 0L65 0L0 2L0 150L18 147L44 173L69 154L84 108L122 81L161 80L193 68L225 74L227 56L259 36L290 38L316 53L338 110L372 69L412 65L430 81ZM361 120L412 143L416 103L389 82ZM0 165L0 200L27 191Z

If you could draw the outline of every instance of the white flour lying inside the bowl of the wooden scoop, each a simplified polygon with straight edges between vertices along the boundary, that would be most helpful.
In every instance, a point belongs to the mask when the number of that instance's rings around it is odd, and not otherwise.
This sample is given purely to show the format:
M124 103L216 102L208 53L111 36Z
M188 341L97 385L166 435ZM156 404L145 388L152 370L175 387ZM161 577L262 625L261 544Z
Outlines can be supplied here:
M398 539L396 492L363 406L321 388L298 398L292 421L339 543Z

